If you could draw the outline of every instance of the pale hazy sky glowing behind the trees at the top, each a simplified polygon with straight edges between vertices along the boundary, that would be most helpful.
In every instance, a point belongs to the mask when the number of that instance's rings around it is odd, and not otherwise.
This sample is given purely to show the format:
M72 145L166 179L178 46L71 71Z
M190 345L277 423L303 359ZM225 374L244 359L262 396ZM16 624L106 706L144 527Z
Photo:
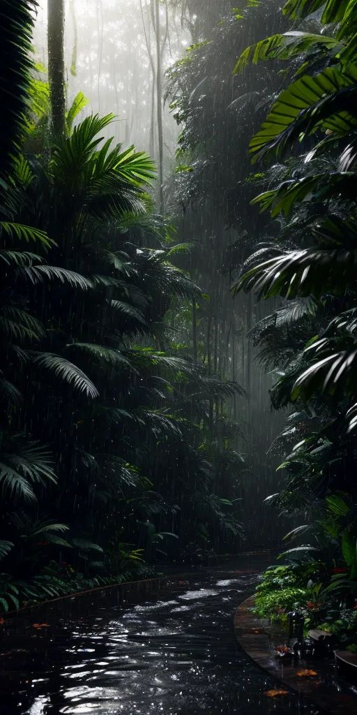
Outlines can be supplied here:
M66 0L66 77L68 102L79 90L86 94L85 113L114 112L116 139L149 151L152 132L153 73L147 42L156 65L154 29L149 0ZM46 0L39 2L34 46L46 66ZM163 69L179 59L190 44L181 26L180 14L170 10L166 31L166 8L161 7ZM144 32L145 26L145 32ZM147 40L147 42L146 42ZM84 116L84 115L83 115ZM156 125L156 113L155 113ZM156 126L154 128L156 131ZM178 127L164 112L166 164L174 156ZM156 148L154 144L154 154Z

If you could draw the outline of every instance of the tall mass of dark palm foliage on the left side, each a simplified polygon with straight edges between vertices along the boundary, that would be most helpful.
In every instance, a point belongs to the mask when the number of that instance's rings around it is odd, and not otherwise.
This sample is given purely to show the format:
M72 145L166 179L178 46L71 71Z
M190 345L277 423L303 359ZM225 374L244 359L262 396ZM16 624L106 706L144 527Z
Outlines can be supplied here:
M22 44L9 43L23 116L0 217L5 610L161 556L197 560L241 533L242 458L214 425L243 390L172 340L171 317L201 291L155 213L154 164L103 140L113 115L79 121L82 94L54 141L22 12Z

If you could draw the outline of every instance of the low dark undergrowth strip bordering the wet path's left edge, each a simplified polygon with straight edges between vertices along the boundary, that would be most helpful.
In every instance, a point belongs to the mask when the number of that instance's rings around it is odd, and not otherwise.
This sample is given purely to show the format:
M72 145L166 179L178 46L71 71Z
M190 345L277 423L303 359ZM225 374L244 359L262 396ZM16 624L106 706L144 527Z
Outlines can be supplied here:
M144 578L157 576L151 566L141 563L133 571L105 576L87 576L62 563L60 566L52 562L42 573L34 578L21 581L11 578L9 574L0 574L0 613L7 613L24 606L34 606L41 601L69 596L71 593L89 591L91 588L111 586L116 583L140 581Z

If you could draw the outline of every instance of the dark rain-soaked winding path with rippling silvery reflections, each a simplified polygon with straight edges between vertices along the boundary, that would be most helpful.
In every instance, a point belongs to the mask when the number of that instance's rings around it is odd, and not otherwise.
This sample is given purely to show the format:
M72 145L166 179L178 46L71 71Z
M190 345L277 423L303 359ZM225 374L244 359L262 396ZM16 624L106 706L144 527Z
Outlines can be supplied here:
M10 623L0 714L320 715L293 692L267 696L278 682L236 643L233 616L259 567L239 559L193 571L136 606L99 598L85 613L46 613L41 628Z

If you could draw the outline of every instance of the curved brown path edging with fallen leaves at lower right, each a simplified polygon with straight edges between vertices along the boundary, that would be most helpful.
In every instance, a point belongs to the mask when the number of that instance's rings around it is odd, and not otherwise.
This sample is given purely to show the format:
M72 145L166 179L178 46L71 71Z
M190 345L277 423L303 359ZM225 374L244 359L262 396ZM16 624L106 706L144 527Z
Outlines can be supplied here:
M313 701L332 715L357 715L357 692L343 689L338 692L333 681L336 673L331 672L331 667L326 667L323 661L309 661L308 664L294 666L291 661L277 659L271 649L271 644L284 644L286 642L286 628L271 624L266 618L258 618L252 613L254 596L246 598L241 603L234 616L234 632L238 644L243 651L270 676L276 678L284 685L297 691L301 696ZM318 677L301 679L297 671L304 667L313 669Z

